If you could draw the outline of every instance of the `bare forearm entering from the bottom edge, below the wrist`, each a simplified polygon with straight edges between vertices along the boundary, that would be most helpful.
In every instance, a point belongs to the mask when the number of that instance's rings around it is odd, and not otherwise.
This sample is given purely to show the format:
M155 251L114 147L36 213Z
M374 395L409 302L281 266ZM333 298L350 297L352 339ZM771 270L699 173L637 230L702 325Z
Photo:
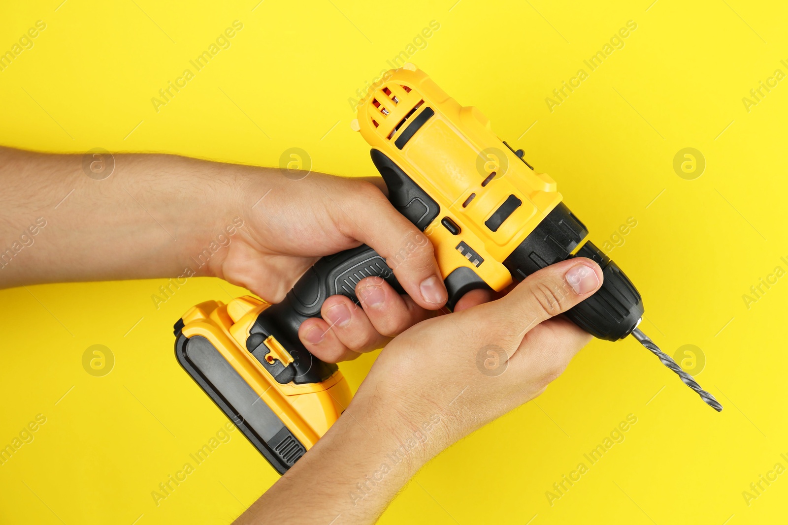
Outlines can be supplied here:
M397 403L391 397L357 396L317 445L234 525L375 523L442 448L438 443L446 434L440 411L412 418L392 405Z

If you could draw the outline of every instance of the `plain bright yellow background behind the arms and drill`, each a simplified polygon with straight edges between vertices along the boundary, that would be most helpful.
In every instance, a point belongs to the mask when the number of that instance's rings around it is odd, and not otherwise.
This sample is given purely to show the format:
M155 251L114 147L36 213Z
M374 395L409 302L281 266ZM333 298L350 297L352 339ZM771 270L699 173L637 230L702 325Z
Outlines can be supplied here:
M0 72L3 145L267 166L297 146L315 170L374 175L348 98L437 20L411 61L552 175L597 244L637 220L610 255L644 295L642 327L667 353L702 349L697 379L725 411L633 338L595 341L537 401L427 465L381 523L784 523L788 474L749 506L742 497L775 463L788 467L788 277L749 309L742 300L775 266L788 270L788 80L749 113L742 104L788 72L784 2L60 2L0 12L0 51L46 22ZM243 22L232 47L156 113L151 97L232 20ZM588 72L583 60L627 20L626 46L551 113L545 98ZM672 168L685 147L706 159L698 179ZM0 467L2 523L228 523L277 480L236 431L154 505L151 491L226 421L177 364L173 322L243 293L194 279L157 310L162 283L0 292L0 445L46 416ZM104 377L82 368L94 344L116 359ZM373 360L342 365L354 389ZM549 505L545 491L630 413L626 440Z

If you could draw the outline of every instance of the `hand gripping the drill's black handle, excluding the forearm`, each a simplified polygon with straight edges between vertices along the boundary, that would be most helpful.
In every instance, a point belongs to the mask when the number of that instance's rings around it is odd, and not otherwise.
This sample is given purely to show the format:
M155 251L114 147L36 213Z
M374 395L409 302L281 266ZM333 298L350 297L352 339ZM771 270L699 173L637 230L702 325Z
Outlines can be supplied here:
M322 319L299 329L304 346L322 360L381 348L445 304L432 244L374 184L318 173L291 180L274 171L248 177L237 198L247 228L211 266L214 275L278 302L319 256L364 243L386 258L407 292L368 278L356 287L362 308L342 295L325 301Z

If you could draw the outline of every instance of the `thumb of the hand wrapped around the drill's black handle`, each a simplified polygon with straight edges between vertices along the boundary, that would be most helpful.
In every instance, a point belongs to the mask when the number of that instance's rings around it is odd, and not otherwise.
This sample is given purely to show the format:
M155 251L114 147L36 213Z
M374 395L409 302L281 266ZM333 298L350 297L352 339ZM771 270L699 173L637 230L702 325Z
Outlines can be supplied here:
M352 208L352 235L385 257L408 295L429 310L440 309L448 294L435 261L433 245L411 221L394 209L377 187L360 186Z

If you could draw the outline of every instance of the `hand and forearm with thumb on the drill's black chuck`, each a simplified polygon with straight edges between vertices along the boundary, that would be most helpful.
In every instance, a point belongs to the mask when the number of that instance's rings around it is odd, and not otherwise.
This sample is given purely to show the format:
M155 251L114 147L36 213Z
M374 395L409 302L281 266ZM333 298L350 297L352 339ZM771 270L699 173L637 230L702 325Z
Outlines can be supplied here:
M559 314L601 283L593 261L562 261L504 298L404 331L340 419L236 523L374 523L430 458L563 372L591 336Z

